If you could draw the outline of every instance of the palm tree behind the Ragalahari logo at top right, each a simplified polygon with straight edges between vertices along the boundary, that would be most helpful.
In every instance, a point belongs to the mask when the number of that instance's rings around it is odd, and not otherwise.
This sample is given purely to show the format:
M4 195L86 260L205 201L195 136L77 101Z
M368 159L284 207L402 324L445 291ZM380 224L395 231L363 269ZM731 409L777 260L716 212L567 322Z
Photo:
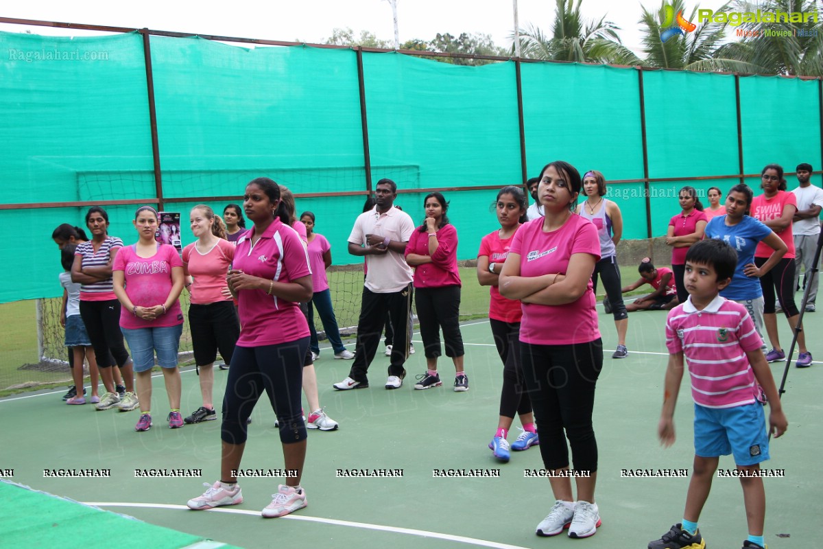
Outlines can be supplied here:
M765 5L754 5L737 0L732 5L733 12L816 12L813 0L769 0ZM752 71L760 74L784 74L795 76L823 76L823 32L816 28L814 21L807 23L751 23L745 35L718 50L728 58L746 61L758 67ZM738 27L739 28L739 27ZM791 35L770 35L765 31L791 31Z

